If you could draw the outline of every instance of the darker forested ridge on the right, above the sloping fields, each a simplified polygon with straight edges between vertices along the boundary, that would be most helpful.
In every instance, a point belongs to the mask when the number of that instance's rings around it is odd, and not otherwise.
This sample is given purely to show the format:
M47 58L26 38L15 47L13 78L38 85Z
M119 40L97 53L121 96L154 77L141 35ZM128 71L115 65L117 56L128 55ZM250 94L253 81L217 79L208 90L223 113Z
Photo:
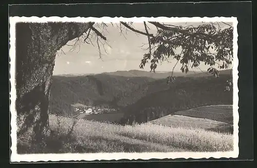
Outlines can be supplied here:
M220 77L177 77L168 87L164 80L150 82L149 94L124 108L121 122L146 122L176 111L212 104L232 104L232 92L224 92L228 75ZM157 84L158 83L158 84ZM158 86L158 87L157 87ZM161 89L162 88L162 89ZM156 91L154 91L156 90ZM159 91L157 91L159 90Z

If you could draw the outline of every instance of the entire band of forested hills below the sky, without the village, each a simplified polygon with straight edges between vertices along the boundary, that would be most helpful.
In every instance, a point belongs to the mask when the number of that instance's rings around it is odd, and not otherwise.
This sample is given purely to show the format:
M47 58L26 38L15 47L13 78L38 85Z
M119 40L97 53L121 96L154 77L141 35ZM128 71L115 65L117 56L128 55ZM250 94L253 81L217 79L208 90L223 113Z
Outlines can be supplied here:
M119 76L127 72L134 74L134 77ZM201 77L204 76L203 73L188 74L188 77L178 76L171 85L167 85L167 80L163 78L167 76L163 73L151 73L160 75L155 78L142 76L146 75L143 74L145 71L118 73L118 75L102 73L85 76L53 76L50 113L63 116L75 115L71 114L70 109L70 104L75 103L140 113L144 109L151 108L150 104L166 109L169 107L173 112L183 110L185 107L193 108L194 105L198 107L232 101L232 95L223 92L228 78L227 72L221 72L219 78L210 75ZM200 96L201 94L203 96ZM194 96L196 97L193 99ZM171 101L172 106L170 106Z

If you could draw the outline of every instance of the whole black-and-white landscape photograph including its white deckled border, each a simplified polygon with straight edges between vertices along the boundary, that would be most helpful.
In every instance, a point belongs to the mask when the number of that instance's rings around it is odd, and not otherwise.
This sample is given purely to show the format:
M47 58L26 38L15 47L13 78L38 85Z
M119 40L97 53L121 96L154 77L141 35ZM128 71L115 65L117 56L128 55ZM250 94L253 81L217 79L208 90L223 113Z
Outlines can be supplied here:
M11 160L238 156L235 17L10 17Z

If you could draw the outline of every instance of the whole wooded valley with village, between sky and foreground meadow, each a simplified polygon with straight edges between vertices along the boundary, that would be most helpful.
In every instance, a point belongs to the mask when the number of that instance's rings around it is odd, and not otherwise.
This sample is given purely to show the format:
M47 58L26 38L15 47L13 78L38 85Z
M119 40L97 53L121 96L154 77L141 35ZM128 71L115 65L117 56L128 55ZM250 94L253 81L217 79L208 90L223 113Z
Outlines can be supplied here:
M170 85L167 85L167 79L164 78L167 73L136 70L85 76L53 76L49 111L65 117L118 124L143 123L171 114L206 118L206 113L201 110L190 109L232 104L232 93L224 92L229 73L229 70L221 71L218 78L199 72L191 72L187 76L177 73L176 81ZM93 111L83 114L86 110L78 110L74 104L81 104L81 107ZM232 122L231 118L224 117L218 111L215 114L208 113L212 116L210 119L222 118L220 122Z

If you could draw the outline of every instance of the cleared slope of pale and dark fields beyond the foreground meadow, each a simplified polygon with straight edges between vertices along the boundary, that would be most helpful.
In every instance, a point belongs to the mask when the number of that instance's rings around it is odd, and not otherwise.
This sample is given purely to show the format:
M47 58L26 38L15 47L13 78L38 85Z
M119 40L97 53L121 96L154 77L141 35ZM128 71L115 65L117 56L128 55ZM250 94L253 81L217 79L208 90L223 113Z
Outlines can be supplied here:
M232 105L204 106L178 111L152 121L168 127L200 128L223 133L233 133Z

